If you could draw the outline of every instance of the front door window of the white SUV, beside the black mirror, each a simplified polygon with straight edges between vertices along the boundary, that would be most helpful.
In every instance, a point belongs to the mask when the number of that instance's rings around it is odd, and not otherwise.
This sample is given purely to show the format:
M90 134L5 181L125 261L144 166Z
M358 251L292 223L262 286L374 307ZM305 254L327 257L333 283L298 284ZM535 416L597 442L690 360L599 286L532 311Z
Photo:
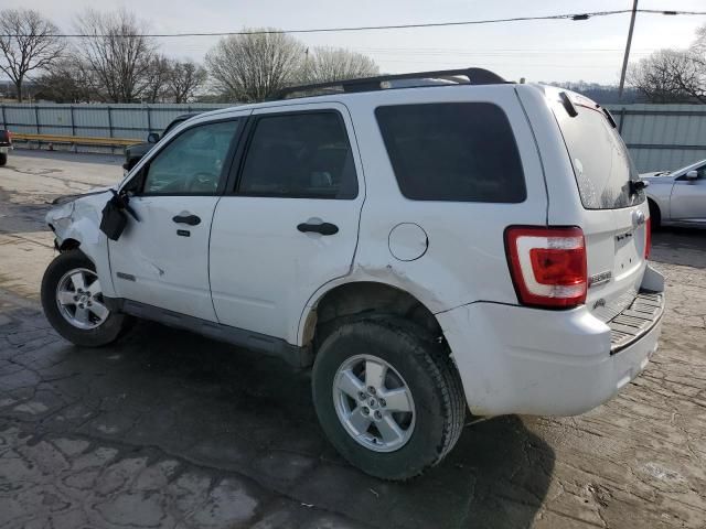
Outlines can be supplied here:
M237 120L185 130L150 160L143 193L190 195L215 193L227 171Z

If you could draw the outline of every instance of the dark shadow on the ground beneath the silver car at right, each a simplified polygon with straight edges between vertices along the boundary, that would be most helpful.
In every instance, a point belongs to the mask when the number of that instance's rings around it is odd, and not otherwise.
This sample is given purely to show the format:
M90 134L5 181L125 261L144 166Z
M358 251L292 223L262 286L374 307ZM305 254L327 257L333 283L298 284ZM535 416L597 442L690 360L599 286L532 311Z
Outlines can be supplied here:
M706 268L706 229L665 227L654 231L650 260Z

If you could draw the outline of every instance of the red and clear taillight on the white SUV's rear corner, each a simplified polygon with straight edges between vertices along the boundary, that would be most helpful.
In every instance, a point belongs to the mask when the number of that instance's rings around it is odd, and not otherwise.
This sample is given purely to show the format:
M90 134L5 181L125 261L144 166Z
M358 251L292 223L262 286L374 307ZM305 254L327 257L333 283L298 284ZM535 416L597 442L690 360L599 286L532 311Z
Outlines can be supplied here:
M581 228L512 226L505 230L505 250L521 303L570 309L586 301L588 276Z

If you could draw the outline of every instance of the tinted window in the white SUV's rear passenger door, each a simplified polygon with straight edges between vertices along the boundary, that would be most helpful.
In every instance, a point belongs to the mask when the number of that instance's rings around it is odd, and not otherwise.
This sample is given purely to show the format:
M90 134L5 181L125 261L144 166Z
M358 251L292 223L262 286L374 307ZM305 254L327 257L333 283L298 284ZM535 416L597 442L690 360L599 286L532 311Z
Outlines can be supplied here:
M334 111L263 116L245 156L238 193L287 198L357 196L353 153Z

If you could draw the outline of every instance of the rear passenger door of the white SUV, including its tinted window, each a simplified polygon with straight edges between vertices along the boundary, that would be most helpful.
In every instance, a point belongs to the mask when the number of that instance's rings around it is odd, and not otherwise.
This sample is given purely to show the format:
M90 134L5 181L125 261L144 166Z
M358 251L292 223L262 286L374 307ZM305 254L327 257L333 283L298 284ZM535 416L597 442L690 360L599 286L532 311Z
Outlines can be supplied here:
M259 109L243 151L213 219L213 304L221 323L293 343L310 295L355 253L364 183L351 119L340 104Z

